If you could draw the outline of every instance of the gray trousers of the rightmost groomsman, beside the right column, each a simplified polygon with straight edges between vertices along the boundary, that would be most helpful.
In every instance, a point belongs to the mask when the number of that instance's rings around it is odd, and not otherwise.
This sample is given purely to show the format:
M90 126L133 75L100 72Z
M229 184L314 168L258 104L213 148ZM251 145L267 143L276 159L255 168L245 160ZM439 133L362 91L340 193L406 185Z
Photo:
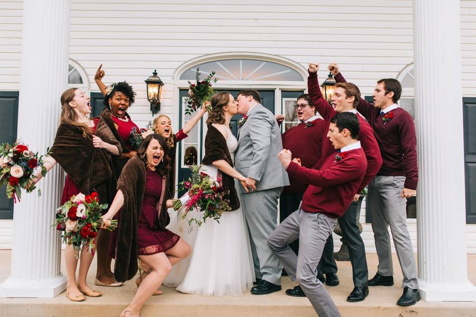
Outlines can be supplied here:
M368 185L368 203L378 256L377 272L382 276L393 275L390 225L403 272L403 286L417 289L415 256L407 230L407 199L401 196L404 184L405 176L375 176Z

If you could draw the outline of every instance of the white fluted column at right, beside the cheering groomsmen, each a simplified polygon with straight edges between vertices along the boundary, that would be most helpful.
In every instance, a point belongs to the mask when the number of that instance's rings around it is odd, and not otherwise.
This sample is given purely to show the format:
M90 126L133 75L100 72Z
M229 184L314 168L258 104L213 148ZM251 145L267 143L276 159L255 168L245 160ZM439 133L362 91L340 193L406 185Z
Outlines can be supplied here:
M476 301L468 280L459 0L414 0L418 283L425 301Z

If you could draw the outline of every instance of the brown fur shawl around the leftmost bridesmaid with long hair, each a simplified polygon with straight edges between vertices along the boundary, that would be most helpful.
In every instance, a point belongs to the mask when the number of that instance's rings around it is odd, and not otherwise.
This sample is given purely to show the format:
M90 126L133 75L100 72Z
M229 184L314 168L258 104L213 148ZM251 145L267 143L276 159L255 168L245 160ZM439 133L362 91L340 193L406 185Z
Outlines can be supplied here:
M93 147L92 139L85 138L77 126L61 123L50 152L83 194L99 191L100 200L107 202L105 193L101 195L98 187L108 183L107 187L114 190L116 177L106 150ZM111 197L112 193L107 196Z

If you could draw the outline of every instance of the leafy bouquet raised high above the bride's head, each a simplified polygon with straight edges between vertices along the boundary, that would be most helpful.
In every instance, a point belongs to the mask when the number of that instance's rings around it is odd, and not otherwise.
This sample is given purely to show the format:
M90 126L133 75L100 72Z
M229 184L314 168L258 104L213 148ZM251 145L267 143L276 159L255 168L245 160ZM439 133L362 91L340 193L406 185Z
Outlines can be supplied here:
M188 97L185 114L190 114L193 111L196 111L197 107L200 107L204 102L212 99L212 96L215 94L212 88L212 83L218 81L218 78L212 80L213 76L215 76L214 71L205 77L204 80L200 80L200 70L197 68L197 73L195 75L196 82L192 84L188 81ZM207 106L207 110L210 112L212 110L211 106Z

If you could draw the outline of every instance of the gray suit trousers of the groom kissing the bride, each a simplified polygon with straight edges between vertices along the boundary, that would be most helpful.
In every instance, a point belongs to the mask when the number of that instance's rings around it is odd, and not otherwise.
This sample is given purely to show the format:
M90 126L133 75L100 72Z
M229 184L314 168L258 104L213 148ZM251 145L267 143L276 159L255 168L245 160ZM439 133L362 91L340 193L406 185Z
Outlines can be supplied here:
M256 278L281 285L281 265L266 241L278 226L278 198L282 187L242 194Z

